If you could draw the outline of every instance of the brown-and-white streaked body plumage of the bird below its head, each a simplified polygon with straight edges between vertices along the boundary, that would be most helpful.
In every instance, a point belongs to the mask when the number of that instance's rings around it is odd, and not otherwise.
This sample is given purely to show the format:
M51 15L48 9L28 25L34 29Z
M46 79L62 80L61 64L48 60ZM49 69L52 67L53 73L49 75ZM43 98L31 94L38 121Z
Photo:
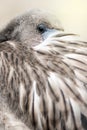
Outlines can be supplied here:
M55 33L27 48L0 43L0 81L8 105L30 128L85 130L87 43Z

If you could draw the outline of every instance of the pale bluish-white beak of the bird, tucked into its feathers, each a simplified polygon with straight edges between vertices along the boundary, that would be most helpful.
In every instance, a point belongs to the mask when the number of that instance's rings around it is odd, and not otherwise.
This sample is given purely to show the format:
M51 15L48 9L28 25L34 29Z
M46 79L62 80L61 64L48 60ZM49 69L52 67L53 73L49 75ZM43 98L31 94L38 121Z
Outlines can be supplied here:
M63 29L47 29L47 31L45 33L42 34L43 39L47 39L50 35L54 34L54 33L58 33L58 31L64 31Z

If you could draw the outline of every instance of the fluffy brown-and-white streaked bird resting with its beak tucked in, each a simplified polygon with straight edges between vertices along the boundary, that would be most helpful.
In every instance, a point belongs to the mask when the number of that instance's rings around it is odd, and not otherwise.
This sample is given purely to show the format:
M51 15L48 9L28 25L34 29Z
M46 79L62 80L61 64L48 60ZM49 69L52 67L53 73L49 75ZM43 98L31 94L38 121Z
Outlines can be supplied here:
M87 130L87 42L49 12L17 16L0 31L0 99L29 130Z

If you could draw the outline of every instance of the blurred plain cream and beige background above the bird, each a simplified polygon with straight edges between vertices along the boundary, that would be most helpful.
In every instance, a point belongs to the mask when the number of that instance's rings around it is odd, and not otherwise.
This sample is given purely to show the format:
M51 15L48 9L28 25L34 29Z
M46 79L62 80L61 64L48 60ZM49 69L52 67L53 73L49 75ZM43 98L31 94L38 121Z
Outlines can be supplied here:
M0 28L31 8L50 10L66 31L87 41L87 0L0 0Z

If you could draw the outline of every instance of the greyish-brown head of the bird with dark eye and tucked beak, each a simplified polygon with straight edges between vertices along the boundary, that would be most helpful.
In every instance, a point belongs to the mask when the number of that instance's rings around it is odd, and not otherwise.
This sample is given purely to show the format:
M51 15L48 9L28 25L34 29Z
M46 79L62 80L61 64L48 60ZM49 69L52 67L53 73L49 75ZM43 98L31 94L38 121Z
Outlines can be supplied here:
M63 31L63 28L55 16L33 9L13 19L0 32L0 42L18 41L30 47L42 43L56 30Z

